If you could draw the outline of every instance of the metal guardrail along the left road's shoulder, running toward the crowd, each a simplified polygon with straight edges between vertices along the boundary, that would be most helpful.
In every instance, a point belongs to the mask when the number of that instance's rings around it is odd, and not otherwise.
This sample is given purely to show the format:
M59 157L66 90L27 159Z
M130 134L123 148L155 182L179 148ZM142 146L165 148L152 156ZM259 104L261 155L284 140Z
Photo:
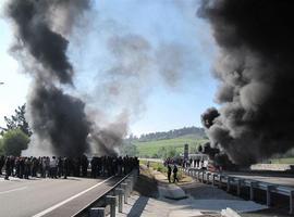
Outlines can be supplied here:
M74 214L72 217L79 216L90 216L90 217L105 217L107 213L110 212L110 217L115 217L115 207L119 206L119 212L122 213L123 201L127 203L127 197L131 195L135 182L138 177L138 170L133 169L130 174L120 179L113 187L105 191L93 202L87 204L78 213ZM124 199L124 200L123 200ZM96 204L99 204L99 207ZM108 206L110 210L108 212Z

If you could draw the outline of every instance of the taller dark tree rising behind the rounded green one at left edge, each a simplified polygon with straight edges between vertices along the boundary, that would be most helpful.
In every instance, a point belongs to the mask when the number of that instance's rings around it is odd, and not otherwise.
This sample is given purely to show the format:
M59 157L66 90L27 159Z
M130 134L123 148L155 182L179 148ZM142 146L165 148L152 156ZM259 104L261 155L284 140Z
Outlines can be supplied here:
M2 128L2 135L5 131L9 131L11 129L21 129L25 135L30 137L32 130L29 129L28 123L25 119L25 111L26 105L23 104L22 106L19 106L14 112L14 115L11 115L11 117L4 116L4 120L7 123L7 127Z

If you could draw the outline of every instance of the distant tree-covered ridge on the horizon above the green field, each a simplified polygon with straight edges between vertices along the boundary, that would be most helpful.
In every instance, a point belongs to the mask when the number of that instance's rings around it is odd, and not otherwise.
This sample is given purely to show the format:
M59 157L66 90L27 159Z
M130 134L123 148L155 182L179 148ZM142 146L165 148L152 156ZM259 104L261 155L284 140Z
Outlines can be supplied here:
M167 140L167 139L175 139L179 137L187 136L193 139L204 139L206 138L206 133L204 128L200 127L184 127L181 129L172 129L169 131L161 131L161 132L151 132L146 135L140 135L140 137L133 137L131 136L128 141L131 142L149 142L149 141L159 141L159 140Z

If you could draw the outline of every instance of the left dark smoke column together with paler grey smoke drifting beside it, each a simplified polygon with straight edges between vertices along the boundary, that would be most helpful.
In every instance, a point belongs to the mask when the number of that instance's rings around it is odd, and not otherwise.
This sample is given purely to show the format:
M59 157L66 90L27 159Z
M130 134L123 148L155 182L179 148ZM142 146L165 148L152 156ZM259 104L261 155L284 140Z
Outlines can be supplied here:
M77 73L66 55L69 42L73 31L81 33L90 8L89 0L8 1L7 15L16 38L11 53L33 77L27 118L34 135L26 154L117 154L130 119L145 108L152 79L161 78L173 88L187 67L183 44L154 47L142 35L115 31L107 43L113 63L98 77L97 94L89 95L103 104L94 115L87 99L83 102L68 91L74 88ZM106 107L117 110L114 120L106 117Z

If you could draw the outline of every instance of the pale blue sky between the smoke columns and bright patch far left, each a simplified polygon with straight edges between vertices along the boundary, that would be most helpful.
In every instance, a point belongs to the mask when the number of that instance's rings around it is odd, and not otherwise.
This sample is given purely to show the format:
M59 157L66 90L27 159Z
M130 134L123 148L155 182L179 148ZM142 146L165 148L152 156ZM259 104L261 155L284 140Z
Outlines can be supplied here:
M201 113L217 106L213 99L218 82L211 73L217 48L209 25L196 15L197 2L95 1L69 38L68 55L75 71L75 88L68 91L85 99L88 110L103 111L110 119L127 111L128 132L137 136L200 127ZM3 4L0 3L2 11ZM132 53L125 43L133 39L147 46ZM3 116L13 114L26 102L32 85L9 52L13 40L12 25L2 13L0 81L4 85L0 86L0 126L4 126ZM118 47L125 56L118 55ZM124 69L138 71L135 76L123 77L110 73L122 65L126 65ZM172 76L166 73L170 66L175 68ZM113 84L119 93L107 94L105 90Z

